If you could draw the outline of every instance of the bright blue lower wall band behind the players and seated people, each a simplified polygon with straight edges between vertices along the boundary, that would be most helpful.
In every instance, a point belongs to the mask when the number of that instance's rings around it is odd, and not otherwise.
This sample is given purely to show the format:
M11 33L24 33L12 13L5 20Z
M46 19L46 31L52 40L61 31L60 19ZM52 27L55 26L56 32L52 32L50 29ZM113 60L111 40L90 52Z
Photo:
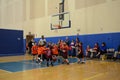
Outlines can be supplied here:
M65 40L66 36L60 37L47 37L46 40L48 42L57 43L59 39ZM76 39L76 35L68 36L70 40ZM39 41L40 38L36 38L35 41ZM96 42L101 46L102 42L105 42L107 48L115 48L117 49L118 45L120 45L120 32L116 33L101 33L101 34L89 34L89 35L79 35L80 41L83 43L84 50L87 45L94 47Z

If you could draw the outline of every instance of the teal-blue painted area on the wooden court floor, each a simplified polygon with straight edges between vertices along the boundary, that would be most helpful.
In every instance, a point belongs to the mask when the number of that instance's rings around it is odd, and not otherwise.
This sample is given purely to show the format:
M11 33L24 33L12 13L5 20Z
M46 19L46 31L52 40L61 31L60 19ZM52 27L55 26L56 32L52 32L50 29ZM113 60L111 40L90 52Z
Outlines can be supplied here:
M73 64L76 62L76 58L69 59L70 64ZM0 69L4 70L6 72L22 72L25 70L32 70L32 69L38 69L38 68L47 68L47 65L45 62L43 64L37 64L35 61L32 60L22 60L22 61L14 61L14 62L3 62L0 63ZM54 66L61 65L61 63L55 62ZM16 66L16 67L15 67Z

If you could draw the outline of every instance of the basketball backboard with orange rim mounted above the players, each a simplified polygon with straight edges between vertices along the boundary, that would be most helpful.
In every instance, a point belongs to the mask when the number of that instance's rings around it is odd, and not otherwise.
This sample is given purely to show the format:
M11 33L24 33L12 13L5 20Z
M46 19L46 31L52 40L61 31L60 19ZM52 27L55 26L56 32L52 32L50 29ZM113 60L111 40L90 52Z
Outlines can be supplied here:
M51 26L51 30L70 28L71 26L70 13L64 12L64 13L52 15L50 26Z

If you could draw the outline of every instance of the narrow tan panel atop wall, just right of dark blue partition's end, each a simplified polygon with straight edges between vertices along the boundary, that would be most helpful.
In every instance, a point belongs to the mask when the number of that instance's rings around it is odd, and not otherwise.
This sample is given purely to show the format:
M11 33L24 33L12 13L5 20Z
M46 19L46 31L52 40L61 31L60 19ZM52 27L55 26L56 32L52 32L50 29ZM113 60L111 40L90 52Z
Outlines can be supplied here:
M45 0L30 0L30 19L45 16Z

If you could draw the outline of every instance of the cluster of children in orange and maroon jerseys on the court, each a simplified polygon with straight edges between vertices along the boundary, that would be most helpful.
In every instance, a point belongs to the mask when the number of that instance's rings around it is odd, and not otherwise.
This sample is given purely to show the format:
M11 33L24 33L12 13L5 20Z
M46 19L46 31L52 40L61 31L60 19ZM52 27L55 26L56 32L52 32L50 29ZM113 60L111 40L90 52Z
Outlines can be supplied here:
M45 41L39 41L38 43L34 42L31 48L33 61L41 64L43 61L47 61L47 66L54 66L54 62L58 61L58 63L68 64L69 65L69 51L73 49L73 45L69 46L66 41L59 40L57 44L47 43ZM78 63L85 63L84 54L81 42L76 42L77 47L77 59ZM62 57L62 60L60 59Z

